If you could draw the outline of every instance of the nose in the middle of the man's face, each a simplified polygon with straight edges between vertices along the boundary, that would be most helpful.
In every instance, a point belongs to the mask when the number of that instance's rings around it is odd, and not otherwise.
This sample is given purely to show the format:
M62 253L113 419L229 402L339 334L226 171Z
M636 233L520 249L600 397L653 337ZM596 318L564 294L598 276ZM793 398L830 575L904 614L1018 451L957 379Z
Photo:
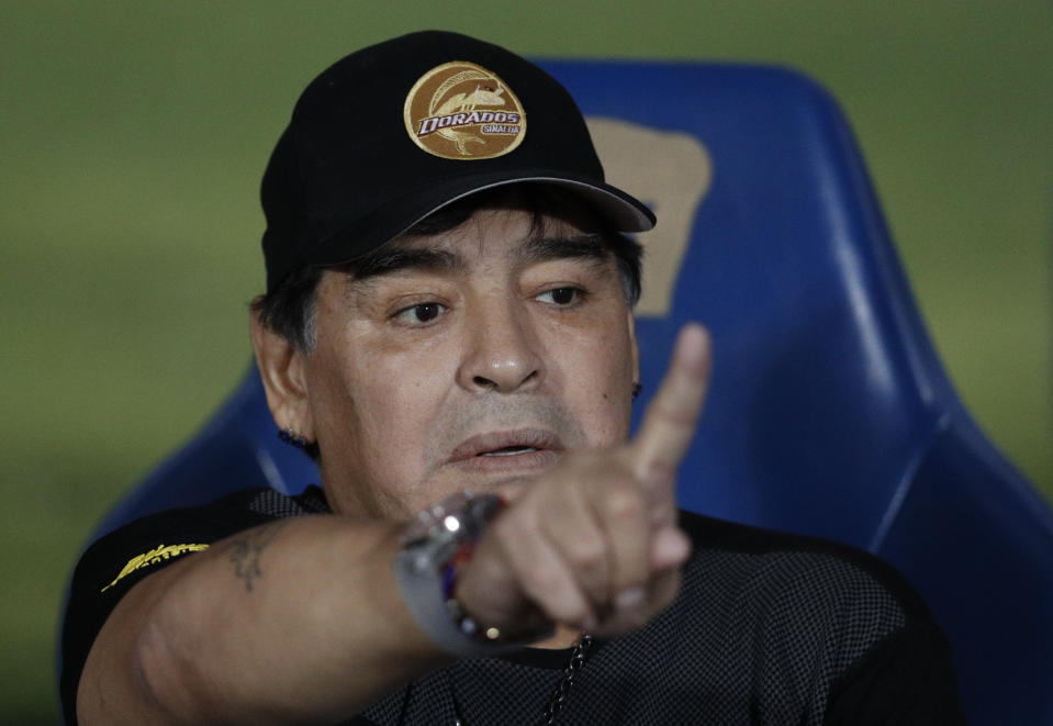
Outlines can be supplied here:
M533 390L545 378L540 346L526 311L514 304L478 311L466 320L468 348L458 383L473 393Z

